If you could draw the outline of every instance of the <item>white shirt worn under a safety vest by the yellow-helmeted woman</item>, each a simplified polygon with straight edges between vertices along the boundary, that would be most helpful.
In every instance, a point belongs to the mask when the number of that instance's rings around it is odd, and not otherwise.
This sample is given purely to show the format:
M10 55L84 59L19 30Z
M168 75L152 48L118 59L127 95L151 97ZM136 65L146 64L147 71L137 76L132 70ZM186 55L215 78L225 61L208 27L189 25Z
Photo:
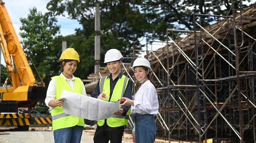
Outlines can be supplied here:
M61 73L61 76L63 76L68 85L70 85L71 89L74 91L74 85L75 85L75 77L74 75L72 75L72 79L68 79L66 78L62 73ZM81 83L83 84L83 82ZM85 91L85 87L83 86L83 95L86 95L86 91ZM55 100L55 97L56 97L56 82L54 79L52 79L50 82L49 82L49 86L48 86L48 89L47 89L47 92L46 92L46 98L45 98L45 104L47 107L50 108L50 110L54 109L54 107L51 107L49 106L49 102Z

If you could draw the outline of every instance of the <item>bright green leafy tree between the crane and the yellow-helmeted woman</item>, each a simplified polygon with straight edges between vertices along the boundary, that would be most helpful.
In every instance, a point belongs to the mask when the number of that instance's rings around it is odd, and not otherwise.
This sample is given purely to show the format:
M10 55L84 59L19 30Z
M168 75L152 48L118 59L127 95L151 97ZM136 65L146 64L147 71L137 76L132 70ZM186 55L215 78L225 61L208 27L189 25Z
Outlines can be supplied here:
M20 36L25 54L29 57L29 64L33 73L40 74L47 81L56 75L60 69L58 65L61 49L53 46L54 37L59 33L60 27L56 25L56 18L42 15L36 8L30 10L27 18L20 18ZM61 43L60 43L61 44ZM36 79L40 81L39 75Z

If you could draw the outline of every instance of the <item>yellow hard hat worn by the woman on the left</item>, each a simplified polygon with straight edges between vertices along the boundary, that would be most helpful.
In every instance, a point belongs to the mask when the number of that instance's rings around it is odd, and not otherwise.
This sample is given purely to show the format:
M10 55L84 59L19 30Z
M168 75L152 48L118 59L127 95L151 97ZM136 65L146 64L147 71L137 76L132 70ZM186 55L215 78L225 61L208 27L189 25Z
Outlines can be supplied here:
M76 52L74 48L67 48L61 53L60 60L76 60L77 62L80 62L79 54Z

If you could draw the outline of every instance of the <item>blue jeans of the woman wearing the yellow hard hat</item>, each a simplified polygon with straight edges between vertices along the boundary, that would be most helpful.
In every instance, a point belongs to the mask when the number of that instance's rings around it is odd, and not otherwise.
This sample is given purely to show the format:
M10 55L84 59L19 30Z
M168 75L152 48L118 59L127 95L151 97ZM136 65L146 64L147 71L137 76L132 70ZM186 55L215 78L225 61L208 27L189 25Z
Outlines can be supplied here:
M83 133L83 126L74 126L54 130L55 143L80 143Z

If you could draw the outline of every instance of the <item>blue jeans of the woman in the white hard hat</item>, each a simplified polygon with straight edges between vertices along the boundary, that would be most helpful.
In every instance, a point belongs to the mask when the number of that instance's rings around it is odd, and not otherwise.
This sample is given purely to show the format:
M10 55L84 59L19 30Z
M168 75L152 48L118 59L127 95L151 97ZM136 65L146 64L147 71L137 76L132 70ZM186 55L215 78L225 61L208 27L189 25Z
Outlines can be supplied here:
M135 115L135 142L154 143L157 126L153 115Z

